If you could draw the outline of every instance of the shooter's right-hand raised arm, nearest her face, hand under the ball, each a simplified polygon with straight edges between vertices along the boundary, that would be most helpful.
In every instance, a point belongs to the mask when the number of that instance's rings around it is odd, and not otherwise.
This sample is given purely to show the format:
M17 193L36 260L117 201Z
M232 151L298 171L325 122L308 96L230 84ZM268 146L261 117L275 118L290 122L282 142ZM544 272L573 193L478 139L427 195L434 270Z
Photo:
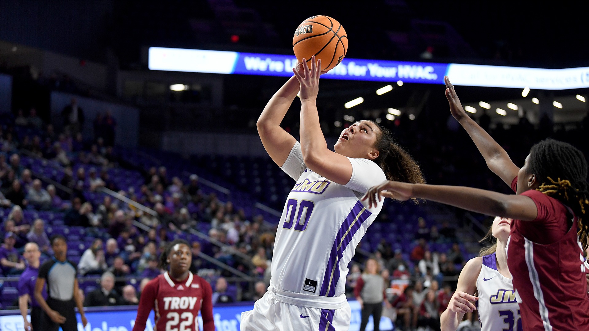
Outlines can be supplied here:
M303 160L305 160L307 168L315 173L335 181L337 184L345 185L352 177L352 163L344 155L337 154L327 148L315 103L319 92L321 60L316 62L315 56L313 56L310 61L312 61L310 69L307 67L306 60L303 59L302 70L294 71L294 76L300 83L300 147ZM364 129L356 127L352 130Z

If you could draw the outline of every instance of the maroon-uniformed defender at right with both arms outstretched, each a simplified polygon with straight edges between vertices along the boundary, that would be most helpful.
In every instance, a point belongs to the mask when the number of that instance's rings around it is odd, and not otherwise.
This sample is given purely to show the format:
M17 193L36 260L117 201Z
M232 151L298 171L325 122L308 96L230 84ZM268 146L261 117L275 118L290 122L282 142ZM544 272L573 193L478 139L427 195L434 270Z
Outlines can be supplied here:
M471 136L487 166L516 195L471 187L413 185L393 181L365 195L425 198L488 215L513 219L507 243L524 330L589 330L589 299L583 251L589 230L589 185L583 152L547 139L532 146L521 169L464 110L448 77L450 111ZM515 316L514 316L515 318Z

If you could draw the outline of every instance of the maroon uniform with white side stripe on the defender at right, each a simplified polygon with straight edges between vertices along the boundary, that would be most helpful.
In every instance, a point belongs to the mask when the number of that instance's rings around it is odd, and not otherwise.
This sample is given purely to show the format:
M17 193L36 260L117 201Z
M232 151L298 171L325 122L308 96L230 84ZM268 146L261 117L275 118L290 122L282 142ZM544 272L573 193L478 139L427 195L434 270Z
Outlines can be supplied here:
M511 187L517 186L517 177ZM589 330L589 298L577 217L540 191L528 196L538 208L534 221L514 220L507 244L524 330Z

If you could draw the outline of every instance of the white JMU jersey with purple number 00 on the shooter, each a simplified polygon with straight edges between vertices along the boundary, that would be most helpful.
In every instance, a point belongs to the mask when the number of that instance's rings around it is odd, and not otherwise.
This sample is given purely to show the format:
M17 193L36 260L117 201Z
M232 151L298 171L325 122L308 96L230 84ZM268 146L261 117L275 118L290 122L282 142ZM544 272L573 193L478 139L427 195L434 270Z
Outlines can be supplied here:
M272 280L284 292L340 296L356 245L382 208L360 198L386 180L373 161L348 158L352 177L340 185L309 170L300 143L281 167L296 184L290 191L274 242Z

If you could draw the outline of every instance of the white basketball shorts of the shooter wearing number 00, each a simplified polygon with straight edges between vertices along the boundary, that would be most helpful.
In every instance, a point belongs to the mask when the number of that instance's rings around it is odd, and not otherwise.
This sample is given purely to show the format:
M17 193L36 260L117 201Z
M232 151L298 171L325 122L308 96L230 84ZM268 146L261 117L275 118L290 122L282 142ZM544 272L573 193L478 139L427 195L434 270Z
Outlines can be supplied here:
M284 296L277 292L270 287L268 292L256 301L253 310L241 313L241 331L347 331L350 327L352 312L345 297L343 297L345 300L343 303L327 305L317 302L310 303L309 300L300 302L302 300L295 299L299 303L305 304L302 306L294 304L293 300L285 300ZM280 293L284 294L284 292ZM306 294L298 295L316 297ZM292 299L292 296L289 295L288 298ZM326 308L321 308L322 306Z

